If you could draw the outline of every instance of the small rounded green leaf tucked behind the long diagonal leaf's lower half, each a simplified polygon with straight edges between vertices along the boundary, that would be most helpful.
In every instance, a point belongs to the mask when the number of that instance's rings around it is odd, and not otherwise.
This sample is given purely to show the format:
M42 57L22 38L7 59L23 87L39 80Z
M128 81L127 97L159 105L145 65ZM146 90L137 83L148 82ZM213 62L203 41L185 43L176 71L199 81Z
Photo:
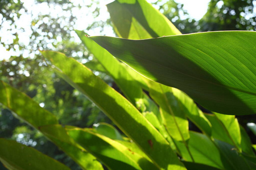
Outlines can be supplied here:
M121 134L112 125L109 125L106 123L100 123L100 124L97 124L97 126L95 127L95 130L98 134L104 135L105 137L108 137L110 139L122 140Z

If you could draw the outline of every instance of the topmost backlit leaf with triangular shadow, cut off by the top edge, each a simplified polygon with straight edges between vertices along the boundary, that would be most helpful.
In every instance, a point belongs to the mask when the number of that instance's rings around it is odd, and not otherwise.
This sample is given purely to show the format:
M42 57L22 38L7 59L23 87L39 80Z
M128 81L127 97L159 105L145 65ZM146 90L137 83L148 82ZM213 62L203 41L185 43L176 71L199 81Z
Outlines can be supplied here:
M145 0L118 0L107 7L119 37L148 39L181 34L170 20Z

